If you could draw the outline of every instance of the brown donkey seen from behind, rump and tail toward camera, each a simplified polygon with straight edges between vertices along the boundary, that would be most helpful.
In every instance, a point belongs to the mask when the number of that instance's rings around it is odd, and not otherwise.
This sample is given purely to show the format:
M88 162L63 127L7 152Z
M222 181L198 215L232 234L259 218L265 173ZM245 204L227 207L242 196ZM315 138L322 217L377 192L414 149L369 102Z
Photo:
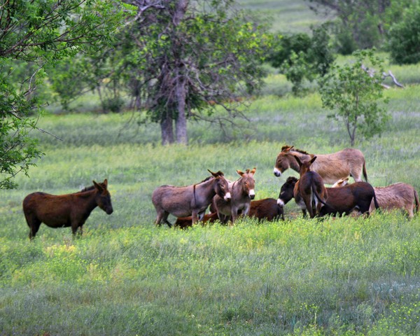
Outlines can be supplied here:
M313 156L310 160L300 161L296 157L297 164L300 166L300 180L294 190L295 202L302 209L309 212L309 216L314 218L321 210L322 204L325 204L327 198L327 190L323 185L323 180L317 172L311 171L311 165L316 160Z

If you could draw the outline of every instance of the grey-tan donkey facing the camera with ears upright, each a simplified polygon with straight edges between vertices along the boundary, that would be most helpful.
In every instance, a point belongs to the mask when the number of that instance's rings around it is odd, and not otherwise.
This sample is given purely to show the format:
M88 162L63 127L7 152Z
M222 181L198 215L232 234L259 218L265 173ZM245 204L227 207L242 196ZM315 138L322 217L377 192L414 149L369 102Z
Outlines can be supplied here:
M237 170L241 177L230 183L229 190L232 196L230 202L226 202L218 196L214 197L213 203L222 223L228 223L229 218L231 218L232 224L234 224L239 215L248 215L251 200L255 197L255 180L253 178L255 170L255 167L251 171L249 169L246 169L245 172Z

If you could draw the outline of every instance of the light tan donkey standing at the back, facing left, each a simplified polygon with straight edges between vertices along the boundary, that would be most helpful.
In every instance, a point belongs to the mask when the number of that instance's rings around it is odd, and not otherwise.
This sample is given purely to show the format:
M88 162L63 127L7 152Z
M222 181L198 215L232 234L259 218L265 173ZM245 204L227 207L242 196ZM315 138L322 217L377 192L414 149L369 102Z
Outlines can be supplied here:
M296 159L304 162L314 156L316 162L311 165L311 170L317 172L324 183L332 184L347 176L352 176L354 181L359 182L362 181L362 174L367 181L365 157L362 152L354 148L345 148L332 154L313 155L294 149L294 146L283 146L274 164L274 175L281 176L288 168L300 172L300 165Z

